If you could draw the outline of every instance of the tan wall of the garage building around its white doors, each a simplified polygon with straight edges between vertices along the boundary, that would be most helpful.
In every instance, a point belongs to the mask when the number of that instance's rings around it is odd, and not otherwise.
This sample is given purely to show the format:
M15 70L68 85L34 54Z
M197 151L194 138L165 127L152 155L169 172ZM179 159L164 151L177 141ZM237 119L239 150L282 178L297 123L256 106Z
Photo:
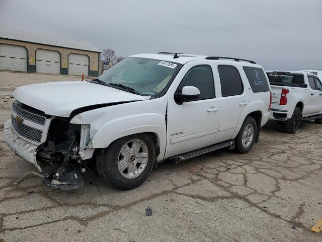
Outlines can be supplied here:
M55 47L44 44L35 44L29 42L23 42L19 40L9 40L9 39L1 39L0 44L13 44L24 46L27 49L28 60L28 72L36 72L36 50L37 49L50 49L56 50L60 53L60 74L68 75L68 54L86 54L90 58L89 63L89 76L97 77L99 76L99 53L92 52L87 50L77 50L77 49L69 49L63 47Z

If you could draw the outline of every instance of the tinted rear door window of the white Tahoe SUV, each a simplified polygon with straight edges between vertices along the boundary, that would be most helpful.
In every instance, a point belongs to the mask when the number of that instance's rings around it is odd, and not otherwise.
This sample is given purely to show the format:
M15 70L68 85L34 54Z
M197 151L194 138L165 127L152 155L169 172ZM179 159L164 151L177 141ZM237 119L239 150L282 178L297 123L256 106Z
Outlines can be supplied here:
M244 87L238 70L234 66L218 66L221 96L228 97L243 93Z

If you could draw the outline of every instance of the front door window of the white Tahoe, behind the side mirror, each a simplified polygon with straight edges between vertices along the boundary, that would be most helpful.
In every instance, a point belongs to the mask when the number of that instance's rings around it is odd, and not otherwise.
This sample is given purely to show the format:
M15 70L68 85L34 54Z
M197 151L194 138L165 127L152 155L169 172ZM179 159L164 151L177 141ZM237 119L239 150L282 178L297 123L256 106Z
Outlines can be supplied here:
M210 66L191 68L182 79L178 90L182 90L185 86L194 86L199 89L200 96L196 100L215 98L215 87Z

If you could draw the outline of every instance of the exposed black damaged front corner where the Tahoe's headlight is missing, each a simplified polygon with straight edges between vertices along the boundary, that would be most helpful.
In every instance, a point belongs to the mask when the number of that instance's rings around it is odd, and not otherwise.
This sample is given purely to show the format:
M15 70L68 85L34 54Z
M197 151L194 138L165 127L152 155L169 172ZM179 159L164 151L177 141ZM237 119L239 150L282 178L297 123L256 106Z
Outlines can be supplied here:
M88 149L90 126L69 123L69 118L51 120L47 140L36 149L36 162L44 173L44 183L62 190L84 185L81 172L86 171L85 159L94 150ZM85 158L85 159L84 159Z

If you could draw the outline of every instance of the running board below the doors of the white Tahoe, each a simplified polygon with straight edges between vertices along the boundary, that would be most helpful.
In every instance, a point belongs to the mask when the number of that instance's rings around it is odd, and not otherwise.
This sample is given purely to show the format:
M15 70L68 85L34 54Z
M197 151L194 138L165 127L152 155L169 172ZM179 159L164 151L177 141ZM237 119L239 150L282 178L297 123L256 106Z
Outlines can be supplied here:
M171 157L170 159L171 160L179 159L179 161L188 160L188 159L191 159L191 158L196 157L198 155L203 155L203 154L206 154L206 153L209 153L209 152L212 152L215 150L219 150L219 149L222 149L225 147L229 147L229 149L233 149L234 148L234 140L227 140L227 141L215 144L215 145L210 145L210 146L198 149L198 150L190 151L190 152L187 152L187 153L184 153L181 155Z

